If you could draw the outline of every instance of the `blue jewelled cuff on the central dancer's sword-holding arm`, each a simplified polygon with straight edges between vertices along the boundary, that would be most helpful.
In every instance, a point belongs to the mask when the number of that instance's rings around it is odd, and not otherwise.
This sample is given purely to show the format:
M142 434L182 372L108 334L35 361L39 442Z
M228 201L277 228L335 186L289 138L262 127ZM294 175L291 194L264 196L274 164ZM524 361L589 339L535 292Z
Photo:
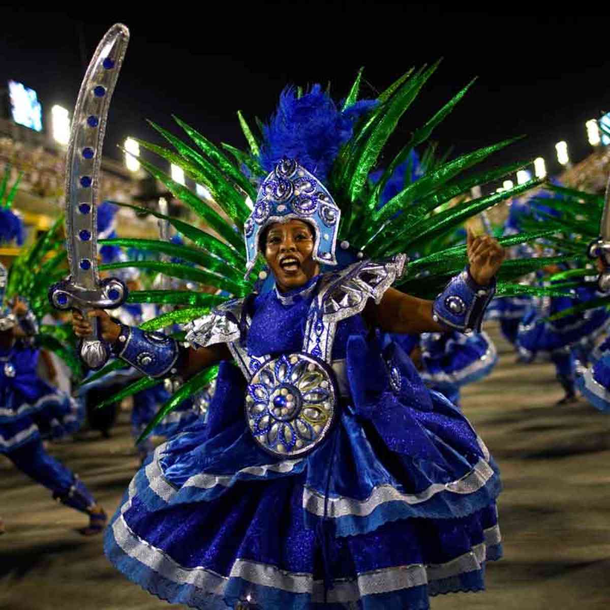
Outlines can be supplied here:
M161 332L146 332L134 326L121 325L121 333L113 348L118 357L150 377L177 372L178 343Z

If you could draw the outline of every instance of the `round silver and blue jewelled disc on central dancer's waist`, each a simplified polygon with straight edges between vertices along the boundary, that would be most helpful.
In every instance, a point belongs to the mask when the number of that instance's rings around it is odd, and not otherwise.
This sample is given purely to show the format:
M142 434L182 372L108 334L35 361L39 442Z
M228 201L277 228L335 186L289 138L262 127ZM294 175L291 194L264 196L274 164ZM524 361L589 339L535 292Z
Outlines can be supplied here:
M318 447L337 414L337 389L328 367L309 354L265 362L246 390L246 421L268 453L294 458Z

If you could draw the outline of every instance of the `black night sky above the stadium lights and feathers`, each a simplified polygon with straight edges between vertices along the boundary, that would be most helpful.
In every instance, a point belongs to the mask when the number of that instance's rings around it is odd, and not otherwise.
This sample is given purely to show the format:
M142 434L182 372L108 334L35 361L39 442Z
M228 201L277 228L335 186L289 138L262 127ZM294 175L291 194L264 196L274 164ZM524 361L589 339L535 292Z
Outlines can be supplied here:
M267 117L288 82L331 81L341 97L361 65L367 83L381 90L412 65L439 57L443 63L401 129L408 134L478 76L434 134L458 152L527 134L496 161L541 155L552 172L558 168L554 142L567 140L572 158L581 159L589 150L584 122L610 110L607 27L599 16L372 3L367 9L356 2L326 9L303 2L298 8L259 3L249 9L226 3L212 5L207 14L188 13L186 6L178 5L174 15L170 2L148 12L102 7L91 18L76 11L66 16L1 9L0 82L13 78L34 88L43 110L54 103L72 107L84 63L107 27L122 21L131 41L105 145L106 154L117 158L116 146L126 135L155 140L145 118L171 127L175 113L215 142L242 146L235 111Z

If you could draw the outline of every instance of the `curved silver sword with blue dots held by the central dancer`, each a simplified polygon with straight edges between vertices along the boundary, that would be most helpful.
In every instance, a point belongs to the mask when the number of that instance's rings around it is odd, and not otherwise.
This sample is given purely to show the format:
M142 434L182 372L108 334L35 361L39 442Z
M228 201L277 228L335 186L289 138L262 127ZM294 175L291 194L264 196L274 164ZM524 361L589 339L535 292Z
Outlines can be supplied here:
M49 301L60 310L114 309L127 298L117 278L100 281L97 214L99 167L110 106L123 63L129 30L121 23L104 35L81 84L70 131L65 166L66 249L70 276L49 289ZM81 341L79 354L89 368L106 364L110 351L97 326Z

